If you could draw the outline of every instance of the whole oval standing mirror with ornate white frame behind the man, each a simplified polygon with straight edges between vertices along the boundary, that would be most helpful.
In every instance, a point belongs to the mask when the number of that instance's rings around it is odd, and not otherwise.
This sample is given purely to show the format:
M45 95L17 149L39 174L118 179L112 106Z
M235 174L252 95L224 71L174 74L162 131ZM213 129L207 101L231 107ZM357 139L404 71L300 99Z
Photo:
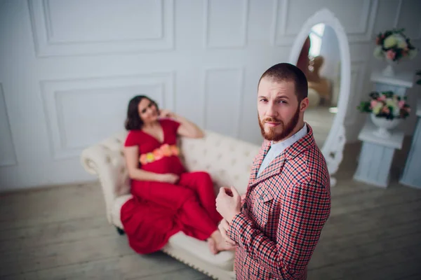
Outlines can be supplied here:
M302 26L290 53L309 83L305 121L313 128L317 146L326 158L330 184L338 171L345 146L344 120L351 81L347 34L338 18L323 8Z

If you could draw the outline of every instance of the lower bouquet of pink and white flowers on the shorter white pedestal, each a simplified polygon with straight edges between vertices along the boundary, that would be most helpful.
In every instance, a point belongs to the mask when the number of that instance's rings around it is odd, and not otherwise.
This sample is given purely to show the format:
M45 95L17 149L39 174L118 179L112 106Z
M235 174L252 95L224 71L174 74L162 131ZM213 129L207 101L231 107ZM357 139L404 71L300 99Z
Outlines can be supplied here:
M363 113L373 113L377 118L406 118L409 116L410 106L406 102L406 97L400 97L391 91L370 92L370 101L361 102L357 107Z

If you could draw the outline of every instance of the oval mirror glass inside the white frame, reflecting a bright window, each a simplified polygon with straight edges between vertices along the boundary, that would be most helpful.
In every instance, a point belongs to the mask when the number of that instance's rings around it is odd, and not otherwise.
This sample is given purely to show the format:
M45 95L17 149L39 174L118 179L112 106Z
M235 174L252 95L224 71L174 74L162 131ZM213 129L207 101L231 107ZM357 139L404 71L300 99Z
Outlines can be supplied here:
M304 120L313 128L316 144L322 148L338 112L341 75L335 30L324 23L314 25L296 65L305 73L309 84L309 107Z

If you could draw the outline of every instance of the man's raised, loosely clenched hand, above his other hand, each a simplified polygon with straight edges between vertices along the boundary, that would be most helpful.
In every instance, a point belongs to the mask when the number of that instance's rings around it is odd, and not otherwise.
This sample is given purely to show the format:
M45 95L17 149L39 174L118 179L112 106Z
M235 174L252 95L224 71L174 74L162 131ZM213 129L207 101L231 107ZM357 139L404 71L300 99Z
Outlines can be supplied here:
M232 222L234 216L241 210L241 197L236 188L220 188L216 197L216 210L228 223Z

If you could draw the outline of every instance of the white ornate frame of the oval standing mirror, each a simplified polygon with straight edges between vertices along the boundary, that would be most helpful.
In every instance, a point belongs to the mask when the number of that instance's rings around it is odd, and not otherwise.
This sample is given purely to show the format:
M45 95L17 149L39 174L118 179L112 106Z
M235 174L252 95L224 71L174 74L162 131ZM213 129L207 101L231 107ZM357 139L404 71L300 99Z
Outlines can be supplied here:
M333 174L338 171L340 162L342 162L343 149L345 146L345 116L347 113L347 105L349 100L349 92L351 86L351 59L349 57L349 44L345 29L340 24L338 18L330 12L330 10L323 8L314 15L312 15L302 26L300 33L295 38L293 48L290 52L289 63L297 64L298 57L300 55L302 45L304 44L307 36L314 25L324 23L335 30L335 34L338 37L339 48L340 48L340 93L338 99L338 113L333 120L333 125L330 127L330 131L326 141L321 148L321 152L326 158L328 170L330 174L330 186L336 185L336 179L333 178Z

